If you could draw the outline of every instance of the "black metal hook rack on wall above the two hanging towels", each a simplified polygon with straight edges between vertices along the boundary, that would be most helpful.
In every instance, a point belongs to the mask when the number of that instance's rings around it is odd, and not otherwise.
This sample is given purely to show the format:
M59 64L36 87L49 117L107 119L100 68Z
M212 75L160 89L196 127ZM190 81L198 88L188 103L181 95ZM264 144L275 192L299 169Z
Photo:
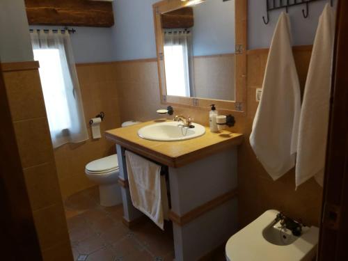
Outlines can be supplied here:
M309 4L319 0L266 0L267 16L262 16L264 24L269 24L269 12L285 8L288 13L289 8L292 6L306 5L306 10L302 9L302 15L304 18L309 16ZM330 5L333 6L333 0L330 0Z

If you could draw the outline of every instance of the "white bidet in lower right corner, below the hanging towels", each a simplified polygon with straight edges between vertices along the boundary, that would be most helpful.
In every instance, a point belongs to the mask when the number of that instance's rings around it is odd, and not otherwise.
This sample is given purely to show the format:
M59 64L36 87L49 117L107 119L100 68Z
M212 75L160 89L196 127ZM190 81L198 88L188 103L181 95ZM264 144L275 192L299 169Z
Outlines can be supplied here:
M228 261L309 261L317 251L319 228L303 227L299 237L275 221L279 212L268 210L230 237Z

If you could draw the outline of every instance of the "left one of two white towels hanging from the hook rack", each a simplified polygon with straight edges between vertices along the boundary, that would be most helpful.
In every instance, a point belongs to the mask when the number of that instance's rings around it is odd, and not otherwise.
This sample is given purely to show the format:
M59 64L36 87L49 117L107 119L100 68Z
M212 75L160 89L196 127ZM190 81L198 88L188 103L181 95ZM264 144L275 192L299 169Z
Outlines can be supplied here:
M256 157L273 180L294 167L300 110L301 91L292 55L290 20L283 12L269 49L261 100L250 136Z

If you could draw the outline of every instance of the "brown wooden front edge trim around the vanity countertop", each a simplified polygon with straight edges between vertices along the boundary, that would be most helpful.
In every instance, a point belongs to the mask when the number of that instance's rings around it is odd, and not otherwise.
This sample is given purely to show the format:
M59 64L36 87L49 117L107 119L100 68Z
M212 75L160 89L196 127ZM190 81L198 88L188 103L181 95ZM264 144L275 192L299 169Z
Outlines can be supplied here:
M110 134L109 132L105 132L105 137L106 139L114 141L116 144L121 145L124 148L132 150L132 152L135 152L143 157L148 157L149 159L157 161L166 166L170 166L172 168L180 168L193 161L197 161L209 155L213 155L216 152L220 152L222 150L232 148L233 146L240 145L244 141L244 136L241 134L239 136L234 137L233 139L226 139L226 141L220 141L219 143L200 148L180 157L169 157L168 155L161 154L150 148L145 148L143 145L139 145L137 143L129 141L128 139L122 139L119 136Z

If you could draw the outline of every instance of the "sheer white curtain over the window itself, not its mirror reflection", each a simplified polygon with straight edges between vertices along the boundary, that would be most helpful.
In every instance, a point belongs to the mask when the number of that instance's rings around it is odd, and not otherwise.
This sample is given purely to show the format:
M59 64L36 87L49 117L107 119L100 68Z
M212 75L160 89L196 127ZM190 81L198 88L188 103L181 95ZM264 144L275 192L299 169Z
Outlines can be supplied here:
M88 139L84 109L68 31L31 33L34 58L40 63L49 130L54 148Z

